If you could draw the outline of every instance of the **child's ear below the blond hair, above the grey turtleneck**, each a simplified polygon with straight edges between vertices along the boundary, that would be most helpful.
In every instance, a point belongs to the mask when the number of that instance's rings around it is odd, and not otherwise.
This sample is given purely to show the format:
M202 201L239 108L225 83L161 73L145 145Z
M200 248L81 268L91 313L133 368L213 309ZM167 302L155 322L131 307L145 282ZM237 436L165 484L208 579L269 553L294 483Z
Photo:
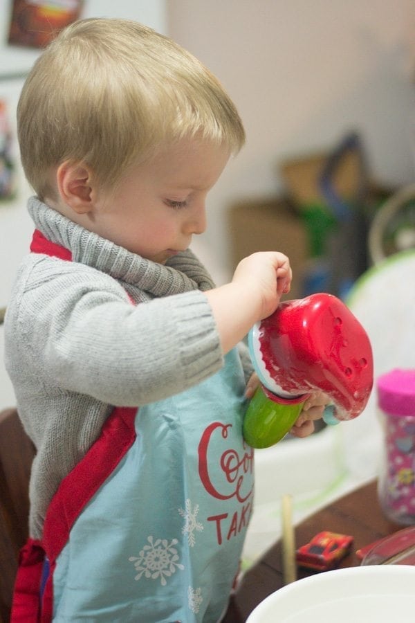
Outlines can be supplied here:
M62 201L77 214L86 214L95 207L95 184L89 167L84 163L62 163L57 168L56 183Z

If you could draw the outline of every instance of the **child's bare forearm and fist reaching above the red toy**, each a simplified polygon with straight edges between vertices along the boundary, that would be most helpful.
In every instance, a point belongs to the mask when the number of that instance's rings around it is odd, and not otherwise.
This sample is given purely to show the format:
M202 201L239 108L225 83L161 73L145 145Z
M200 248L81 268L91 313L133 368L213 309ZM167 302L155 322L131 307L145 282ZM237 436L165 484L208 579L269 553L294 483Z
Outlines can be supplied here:
M286 255L254 253L239 262L230 283L206 292L224 353L277 309L290 291L291 276Z

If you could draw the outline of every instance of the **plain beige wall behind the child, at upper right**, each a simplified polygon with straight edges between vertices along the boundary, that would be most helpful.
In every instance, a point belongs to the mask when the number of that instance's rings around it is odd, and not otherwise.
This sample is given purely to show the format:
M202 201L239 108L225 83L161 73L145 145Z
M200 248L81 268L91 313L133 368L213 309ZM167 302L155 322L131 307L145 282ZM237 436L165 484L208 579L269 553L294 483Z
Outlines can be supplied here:
M168 32L219 77L248 141L212 190L199 246L230 275L225 210L282 190L282 159L331 149L349 129L372 177L414 179L413 0L175 0Z

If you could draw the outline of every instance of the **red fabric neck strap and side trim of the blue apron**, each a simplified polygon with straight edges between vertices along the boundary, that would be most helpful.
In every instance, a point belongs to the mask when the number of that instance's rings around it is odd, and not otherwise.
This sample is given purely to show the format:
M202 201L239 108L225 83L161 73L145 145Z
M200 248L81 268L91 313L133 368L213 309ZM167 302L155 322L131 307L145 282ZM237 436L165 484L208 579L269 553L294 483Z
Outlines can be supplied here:
M71 251L47 240L38 230L30 251L62 260L72 259ZM131 302L133 302L131 300ZM116 469L136 440L136 407L116 407L107 418L100 437L84 458L60 483L46 512L42 541L28 539L21 549L15 581L10 623L49 623L53 617L53 571L56 559L68 542L71 527L84 506ZM40 604L40 588L45 552L50 561Z

